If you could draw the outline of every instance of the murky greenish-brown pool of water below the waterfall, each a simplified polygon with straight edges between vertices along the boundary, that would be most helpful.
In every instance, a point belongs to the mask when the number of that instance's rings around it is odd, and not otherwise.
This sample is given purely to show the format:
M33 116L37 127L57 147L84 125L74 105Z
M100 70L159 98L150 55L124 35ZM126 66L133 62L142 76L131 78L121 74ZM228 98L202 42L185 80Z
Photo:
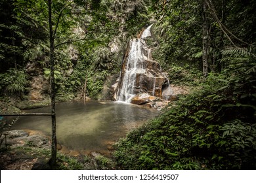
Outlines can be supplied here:
M26 112L49 112L49 107ZM56 135L59 144L79 152L106 152L131 129L158 115L158 111L125 103L68 102L56 105ZM31 129L51 136L51 117L23 116L12 129Z

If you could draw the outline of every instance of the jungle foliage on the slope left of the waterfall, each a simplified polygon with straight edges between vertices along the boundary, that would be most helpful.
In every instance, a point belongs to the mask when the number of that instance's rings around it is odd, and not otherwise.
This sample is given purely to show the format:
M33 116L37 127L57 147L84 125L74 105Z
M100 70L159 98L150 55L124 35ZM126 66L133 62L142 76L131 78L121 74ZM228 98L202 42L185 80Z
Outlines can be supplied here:
M106 78L119 72L127 38L148 24L148 4L142 0L53 1L57 96L81 93L87 80L87 95L98 98ZM32 79L30 75L41 73L49 79L47 2L12 0L1 1L0 5L1 17L7 17L0 22L1 77L6 78L4 73L14 68L24 71L28 80ZM121 49L114 53L111 44ZM39 72L30 73L30 65ZM24 92L28 84L8 89L7 82L3 82L3 95L9 95L12 89Z

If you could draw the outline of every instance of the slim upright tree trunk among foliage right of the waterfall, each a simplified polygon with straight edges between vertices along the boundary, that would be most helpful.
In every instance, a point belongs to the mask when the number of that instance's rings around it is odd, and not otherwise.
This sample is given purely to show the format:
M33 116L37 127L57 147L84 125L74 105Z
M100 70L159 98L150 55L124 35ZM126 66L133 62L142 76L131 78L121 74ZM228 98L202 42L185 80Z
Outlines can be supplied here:
M202 37L203 37L203 76L206 78L208 75L208 59L209 59L209 33L208 33L208 24L206 16L206 7L207 4L203 0L203 28L202 28Z

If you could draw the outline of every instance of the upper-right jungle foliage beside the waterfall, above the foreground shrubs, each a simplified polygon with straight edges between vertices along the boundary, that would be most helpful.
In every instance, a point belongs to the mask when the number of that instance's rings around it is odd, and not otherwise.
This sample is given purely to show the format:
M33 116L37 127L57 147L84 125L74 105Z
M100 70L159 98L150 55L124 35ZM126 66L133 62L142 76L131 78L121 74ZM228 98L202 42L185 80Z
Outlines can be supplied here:
M255 1L197 0L197 1L152 1L158 23L156 35L160 46L154 50L154 58L163 65L186 63L202 68L203 3L208 3L207 54L209 72L223 69L221 50L227 47L248 48L255 46ZM239 24L238 24L239 22Z

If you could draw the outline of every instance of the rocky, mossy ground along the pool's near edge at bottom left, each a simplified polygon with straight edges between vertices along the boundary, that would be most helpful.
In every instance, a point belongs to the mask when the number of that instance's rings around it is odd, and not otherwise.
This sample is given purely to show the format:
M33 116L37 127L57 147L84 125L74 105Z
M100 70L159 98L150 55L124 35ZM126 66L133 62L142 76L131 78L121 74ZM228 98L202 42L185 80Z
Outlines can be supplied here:
M116 169L114 161L98 152L89 155L67 156L58 152L57 162L50 167L51 142L44 137L27 131L14 130L7 135L7 146L0 149L1 170L47 170L47 169Z

